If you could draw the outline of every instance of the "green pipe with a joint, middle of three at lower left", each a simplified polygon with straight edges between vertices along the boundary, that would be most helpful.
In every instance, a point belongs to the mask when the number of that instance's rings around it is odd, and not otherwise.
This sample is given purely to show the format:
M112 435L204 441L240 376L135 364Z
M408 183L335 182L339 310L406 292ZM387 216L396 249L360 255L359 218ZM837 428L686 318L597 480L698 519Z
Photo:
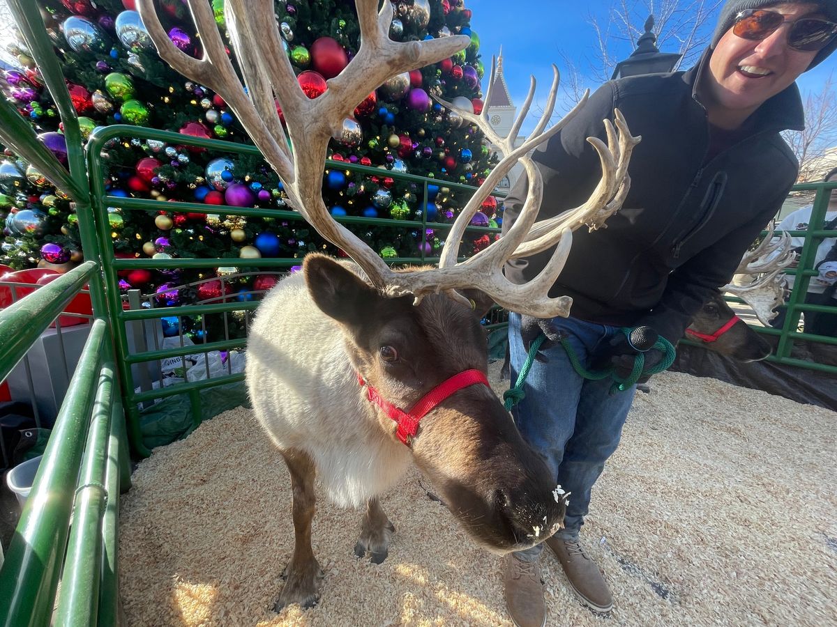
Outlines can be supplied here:
M105 487L115 380L113 363L102 364L61 576L58 613L54 619L54 625L59 627L96 624L99 612L102 517L108 498L119 498L118 492L111 496Z

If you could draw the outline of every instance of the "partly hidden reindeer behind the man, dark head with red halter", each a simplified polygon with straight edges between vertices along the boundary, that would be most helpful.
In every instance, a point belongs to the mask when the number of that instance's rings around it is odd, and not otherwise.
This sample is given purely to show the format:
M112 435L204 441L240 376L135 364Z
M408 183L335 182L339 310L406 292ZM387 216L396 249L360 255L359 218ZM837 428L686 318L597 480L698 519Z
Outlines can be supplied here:
M686 338L745 362L768 357L772 343L738 318L723 295L742 298L765 326L770 325L788 289L782 271L796 257L787 233L775 239L772 236L773 228L754 250L744 254L735 273L738 281L719 288L703 303L686 329Z

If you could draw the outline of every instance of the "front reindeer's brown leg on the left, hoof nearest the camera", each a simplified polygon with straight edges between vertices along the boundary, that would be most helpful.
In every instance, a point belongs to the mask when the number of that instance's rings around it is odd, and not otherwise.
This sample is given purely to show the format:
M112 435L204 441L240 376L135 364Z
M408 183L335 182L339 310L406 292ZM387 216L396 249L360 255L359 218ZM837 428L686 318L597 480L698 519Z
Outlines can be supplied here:
M316 469L311 457L302 451L283 451L290 471L290 483L294 491L294 554L285 568L285 586L276 601L278 612L285 605L300 604L310 608L320 599L320 579L323 572L311 548L311 520L316 510L314 479Z

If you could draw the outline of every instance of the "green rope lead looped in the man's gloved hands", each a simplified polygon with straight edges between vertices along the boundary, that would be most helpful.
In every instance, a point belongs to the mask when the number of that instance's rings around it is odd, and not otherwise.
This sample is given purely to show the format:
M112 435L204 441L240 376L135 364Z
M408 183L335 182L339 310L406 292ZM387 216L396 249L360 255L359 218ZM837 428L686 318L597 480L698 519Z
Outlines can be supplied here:
M630 329L629 327L623 327L621 329L622 333L625 334L625 337L628 337L633 330L634 329ZM545 339L547 339L547 336L541 334L534 342L532 342L529 354L526 355L526 361L521 368L520 375L517 376L515 386L511 388L511 390L506 390L506 393L503 394L506 410L511 411L512 407L517 405L526 397L526 394L523 392L523 383L526 381L526 376L529 375L529 370L531 370L531 366L535 362L537 351L541 348L541 344L543 344ZM564 347L564 350L567 351L567 359L570 360L570 364L573 364L573 370L575 370L579 376L582 376L584 379L594 381L602 380L607 377L613 378L614 385L610 388L611 394L628 390L639 380L639 377L641 376L656 375L663 370L668 370L670 365L673 364L675 360L675 347L671 345L669 340L660 336L657 338L654 346L651 347L652 349L657 349L664 353L664 357L660 360L660 363L652 366L648 370L644 370L645 355L644 353L638 353L634 359L634 368L631 370L630 375L627 379L622 379L614 374L613 366L608 366L604 370L599 370L598 372L584 368L583 364L578 360L578 355L575 354L573 347L570 346L567 338L563 335L561 336L561 345Z

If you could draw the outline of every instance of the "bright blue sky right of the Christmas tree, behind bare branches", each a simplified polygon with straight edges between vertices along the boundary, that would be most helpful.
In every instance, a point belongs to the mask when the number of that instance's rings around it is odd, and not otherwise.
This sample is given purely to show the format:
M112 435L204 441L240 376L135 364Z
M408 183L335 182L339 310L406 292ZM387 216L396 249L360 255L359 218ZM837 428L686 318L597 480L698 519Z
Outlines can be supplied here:
M567 72L563 56L573 60L582 74L582 86L592 91L599 82L594 78L595 72L590 67L591 62L595 63L597 60L598 50L591 19L596 18L598 23L605 25L608 22L608 8L613 4L615 3L608 0L542 0L516 5L510 0L466 0L466 7L473 11L471 28L480 36L480 54L485 64L483 89L488 88L491 55L497 54L502 45L503 74L511 92L511 99L518 107L526 98L530 74L537 79L535 102L545 102L552 83L552 64L557 64L562 75ZM641 28L644 18L647 17L645 3L627 0L627 4L635 8L635 14L638 16L636 25ZM707 0L706 4L710 2ZM712 15L704 32L711 31L715 23L716 15ZM626 58L633 49L624 41L614 41L611 46L618 59ZM663 46L661 51L677 52L676 49L666 46ZM803 95L812 90L822 89L824 80L837 68L835 59L837 54L833 54L823 64L798 79ZM562 92L559 90L559 97L561 96ZM563 96L563 99L566 110L566 96ZM535 106L532 109L534 110ZM535 116L530 114L523 126L523 134L531 130L536 121Z

